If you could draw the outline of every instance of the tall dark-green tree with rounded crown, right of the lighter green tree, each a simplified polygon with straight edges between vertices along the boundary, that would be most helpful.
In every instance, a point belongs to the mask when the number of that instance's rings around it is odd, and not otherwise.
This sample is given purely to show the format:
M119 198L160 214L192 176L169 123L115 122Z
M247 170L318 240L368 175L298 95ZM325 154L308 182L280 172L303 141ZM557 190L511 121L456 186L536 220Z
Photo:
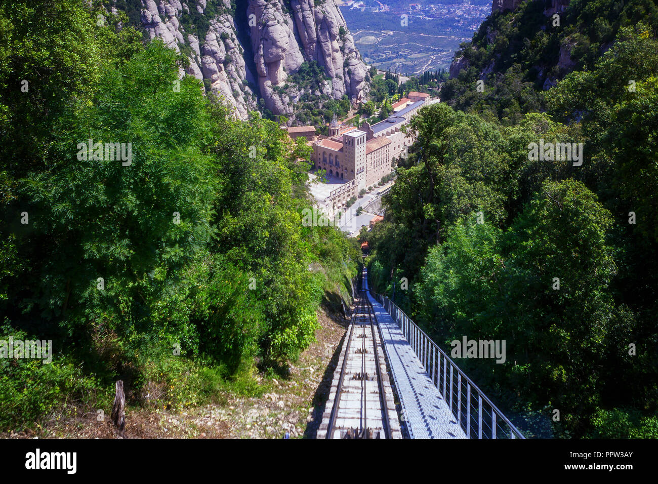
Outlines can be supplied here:
M582 183L547 182L504 241L511 257L501 337L510 341L513 384L531 389L530 399L574 409L565 420L578 432L600 403L611 332L620 319L632 321L609 291L612 221Z

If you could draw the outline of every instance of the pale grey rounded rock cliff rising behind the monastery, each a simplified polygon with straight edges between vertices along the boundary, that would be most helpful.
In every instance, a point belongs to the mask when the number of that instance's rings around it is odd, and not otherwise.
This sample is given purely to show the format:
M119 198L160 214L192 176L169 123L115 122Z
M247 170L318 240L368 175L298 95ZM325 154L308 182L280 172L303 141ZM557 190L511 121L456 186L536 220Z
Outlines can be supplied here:
M367 68L335 0L141 0L139 23L186 55L182 74L202 80L241 119L258 107L293 118L309 89L351 101L368 92ZM291 74L311 61L326 78L296 86Z

